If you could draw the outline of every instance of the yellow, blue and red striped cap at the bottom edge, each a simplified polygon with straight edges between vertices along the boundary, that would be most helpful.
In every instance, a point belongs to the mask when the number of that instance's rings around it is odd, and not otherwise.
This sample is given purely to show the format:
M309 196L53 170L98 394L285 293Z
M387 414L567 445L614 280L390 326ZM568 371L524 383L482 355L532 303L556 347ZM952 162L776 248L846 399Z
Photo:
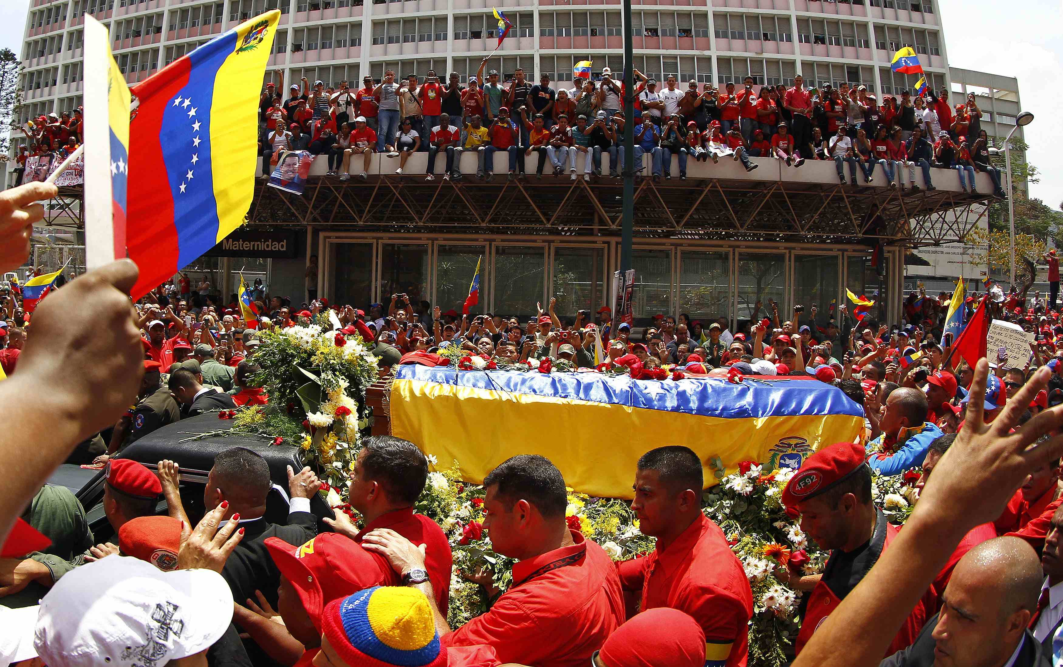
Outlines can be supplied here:
M374 586L333 600L321 616L321 627L348 665L448 664L432 602L417 588Z

